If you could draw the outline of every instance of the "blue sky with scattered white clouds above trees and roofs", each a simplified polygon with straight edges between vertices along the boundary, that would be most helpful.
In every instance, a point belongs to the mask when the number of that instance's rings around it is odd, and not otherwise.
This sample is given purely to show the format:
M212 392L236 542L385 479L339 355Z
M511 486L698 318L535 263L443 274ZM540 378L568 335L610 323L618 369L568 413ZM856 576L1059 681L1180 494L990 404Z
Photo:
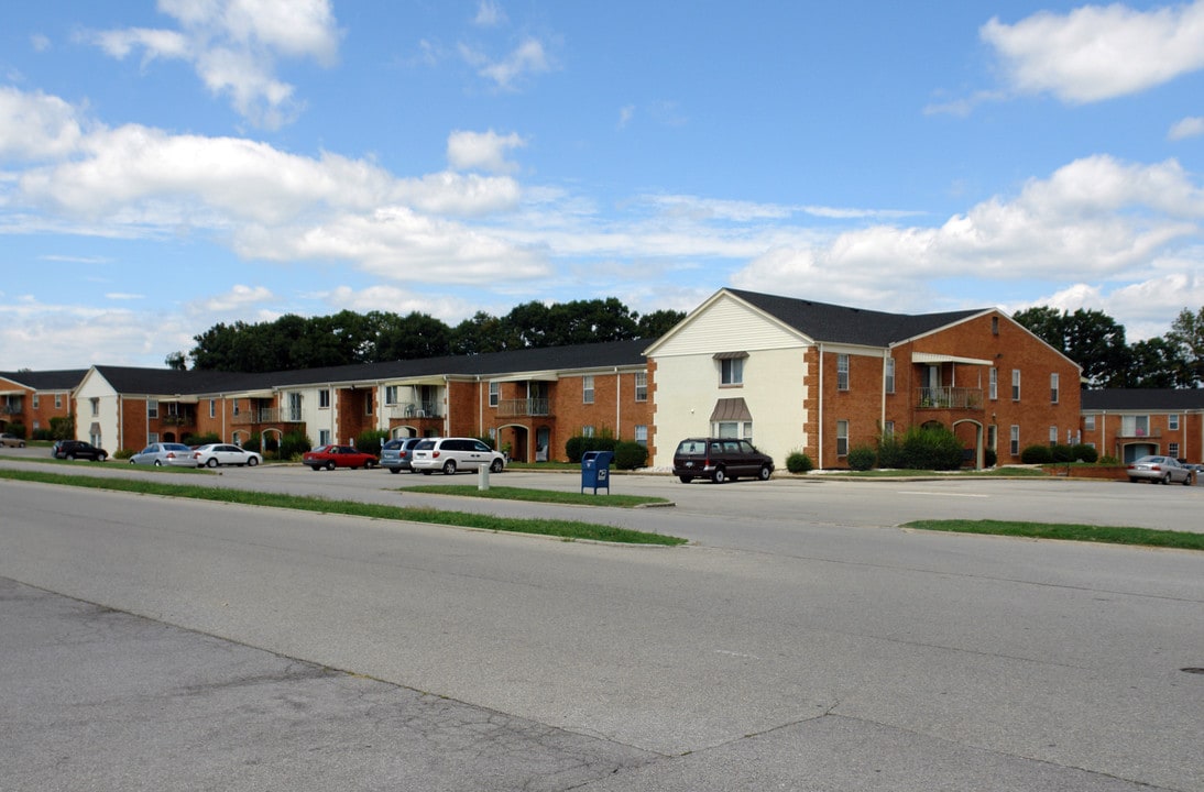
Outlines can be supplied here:
M736 8L736 11L733 11ZM0 12L0 371L722 286L1204 306L1204 0Z

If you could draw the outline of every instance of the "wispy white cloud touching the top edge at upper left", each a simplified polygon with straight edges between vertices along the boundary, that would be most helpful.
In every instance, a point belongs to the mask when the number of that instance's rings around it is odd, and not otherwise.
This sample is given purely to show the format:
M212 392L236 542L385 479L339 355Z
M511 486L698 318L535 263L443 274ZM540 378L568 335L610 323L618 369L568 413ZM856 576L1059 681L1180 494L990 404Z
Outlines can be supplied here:
M179 29L128 28L85 34L113 58L142 52L155 59L190 63L205 87L228 96L252 123L277 129L301 105L293 85L275 76L279 58L306 58L331 65L340 31L329 0L160 0L159 10Z

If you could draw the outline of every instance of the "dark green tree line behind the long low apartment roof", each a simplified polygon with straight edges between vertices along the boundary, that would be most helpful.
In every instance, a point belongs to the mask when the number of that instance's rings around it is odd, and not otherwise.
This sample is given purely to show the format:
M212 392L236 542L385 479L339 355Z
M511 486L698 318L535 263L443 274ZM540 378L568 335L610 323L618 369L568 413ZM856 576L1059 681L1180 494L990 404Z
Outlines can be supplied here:
M685 318L680 311L641 315L616 297L544 305L526 302L504 317L477 312L453 326L429 314L341 311L329 317L285 314L275 321L220 323L199 336L171 368L270 372L321 368L508 349L657 338Z

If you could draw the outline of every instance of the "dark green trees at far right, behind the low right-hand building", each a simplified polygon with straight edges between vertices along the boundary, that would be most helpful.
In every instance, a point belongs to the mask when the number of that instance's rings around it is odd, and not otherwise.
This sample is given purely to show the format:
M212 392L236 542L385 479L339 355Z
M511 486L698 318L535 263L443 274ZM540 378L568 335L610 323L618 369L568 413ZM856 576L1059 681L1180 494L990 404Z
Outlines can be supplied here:
M1184 308L1165 335L1132 344L1125 327L1100 311L1035 306L1013 319L1079 364L1086 388L1204 385L1204 307Z

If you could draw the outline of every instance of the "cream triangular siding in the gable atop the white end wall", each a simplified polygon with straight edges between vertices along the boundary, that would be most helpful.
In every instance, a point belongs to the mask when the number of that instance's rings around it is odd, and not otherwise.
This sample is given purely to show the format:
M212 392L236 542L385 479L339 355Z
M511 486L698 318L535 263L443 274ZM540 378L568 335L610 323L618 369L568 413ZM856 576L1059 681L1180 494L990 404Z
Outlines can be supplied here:
M719 351L749 351L755 349L790 349L805 342L752 308L721 295L690 321L659 345L654 356L714 355ZM657 383L662 382L657 377ZM660 388L660 385L657 385ZM707 415L710 412L708 410Z

